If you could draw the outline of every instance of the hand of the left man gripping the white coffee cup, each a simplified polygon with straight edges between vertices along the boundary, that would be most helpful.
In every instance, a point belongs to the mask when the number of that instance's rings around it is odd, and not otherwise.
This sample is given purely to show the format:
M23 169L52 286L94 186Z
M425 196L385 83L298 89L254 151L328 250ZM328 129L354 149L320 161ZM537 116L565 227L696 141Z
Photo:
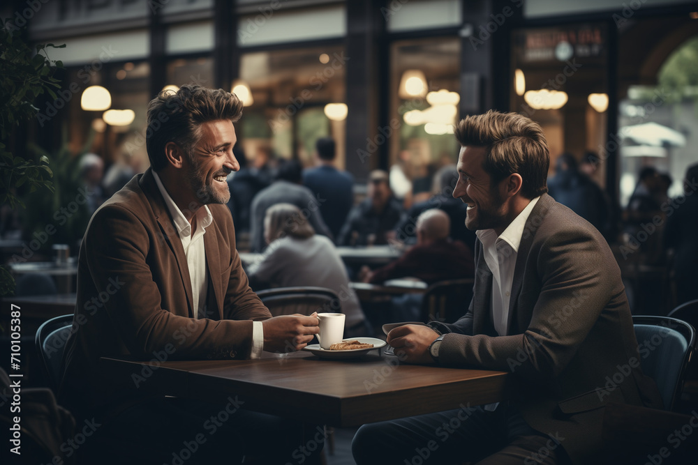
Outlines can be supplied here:
M262 321L264 350L267 352L290 352L303 349L320 333L317 312L309 317L301 314L281 315Z

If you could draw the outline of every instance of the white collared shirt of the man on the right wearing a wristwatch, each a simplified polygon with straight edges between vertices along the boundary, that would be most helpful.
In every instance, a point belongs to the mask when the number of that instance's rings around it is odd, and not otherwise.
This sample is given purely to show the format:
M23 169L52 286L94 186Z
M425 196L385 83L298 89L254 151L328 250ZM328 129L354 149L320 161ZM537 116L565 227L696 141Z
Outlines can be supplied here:
M509 304L523 227L538 199L540 197L531 200L500 236L497 236L494 229L475 231L482 242L484 261L492 272L491 310L494 329L500 336L507 335L509 329Z

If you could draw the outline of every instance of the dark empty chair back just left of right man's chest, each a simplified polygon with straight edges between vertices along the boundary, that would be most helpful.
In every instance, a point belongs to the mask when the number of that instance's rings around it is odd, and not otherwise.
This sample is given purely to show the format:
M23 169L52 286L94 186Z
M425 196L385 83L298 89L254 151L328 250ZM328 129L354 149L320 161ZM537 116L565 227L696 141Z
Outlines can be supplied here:
M422 300L422 321L453 323L468 311L473 299L472 278L446 280L431 284Z

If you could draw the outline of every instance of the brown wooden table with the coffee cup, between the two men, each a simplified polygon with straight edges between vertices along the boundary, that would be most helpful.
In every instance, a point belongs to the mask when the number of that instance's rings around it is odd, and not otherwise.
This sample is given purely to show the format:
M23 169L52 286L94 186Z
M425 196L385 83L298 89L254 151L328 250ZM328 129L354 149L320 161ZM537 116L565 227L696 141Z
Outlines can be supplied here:
M382 351L382 349L381 349ZM392 420L506 398L505 372L406 365L371 351L363 358L323 360L301 351L262 360L136 362L102 358L115 380L159 365L140 388L163 395L229 396L244 408L336 427Z

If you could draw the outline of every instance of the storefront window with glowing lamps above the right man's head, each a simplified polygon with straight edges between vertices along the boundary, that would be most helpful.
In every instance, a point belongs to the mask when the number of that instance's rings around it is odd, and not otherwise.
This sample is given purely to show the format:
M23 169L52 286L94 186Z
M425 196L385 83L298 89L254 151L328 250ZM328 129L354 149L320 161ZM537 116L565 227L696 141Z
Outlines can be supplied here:
M511 109L541 125L550 171L562 153L581 160L607 139L607 32L600 24L519 29L512 34ZM593 174L604 185L605 158Z

